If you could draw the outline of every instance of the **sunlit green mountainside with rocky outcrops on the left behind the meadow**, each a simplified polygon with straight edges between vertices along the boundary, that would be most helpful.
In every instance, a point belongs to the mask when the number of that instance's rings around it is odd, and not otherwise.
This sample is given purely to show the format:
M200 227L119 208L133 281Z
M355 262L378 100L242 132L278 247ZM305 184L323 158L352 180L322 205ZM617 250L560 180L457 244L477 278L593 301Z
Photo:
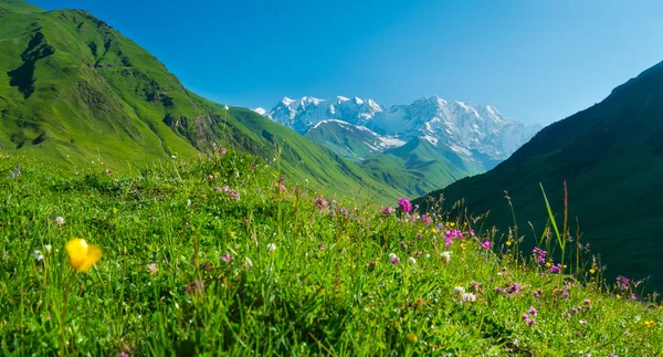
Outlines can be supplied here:
M155 56L85 11L0 4L0 149L116 169L196 157L217 141L267 160L276 156L276 141L290 177L328 192L371 187L380 200L398 197L298 134L192 94Z

